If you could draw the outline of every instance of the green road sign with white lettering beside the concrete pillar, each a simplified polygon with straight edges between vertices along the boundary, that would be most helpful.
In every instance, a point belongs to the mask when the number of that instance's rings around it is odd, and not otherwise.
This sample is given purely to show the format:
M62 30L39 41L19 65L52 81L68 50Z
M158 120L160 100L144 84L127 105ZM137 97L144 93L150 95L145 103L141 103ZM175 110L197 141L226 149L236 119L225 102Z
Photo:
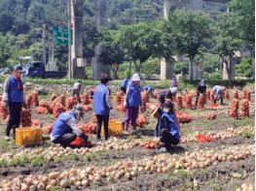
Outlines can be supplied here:
M53 27L53 35L55 44L68 45L68 28L67 27ZM73 31L71 30L71 37L73 35ZM71 39L71 45L72 45Z

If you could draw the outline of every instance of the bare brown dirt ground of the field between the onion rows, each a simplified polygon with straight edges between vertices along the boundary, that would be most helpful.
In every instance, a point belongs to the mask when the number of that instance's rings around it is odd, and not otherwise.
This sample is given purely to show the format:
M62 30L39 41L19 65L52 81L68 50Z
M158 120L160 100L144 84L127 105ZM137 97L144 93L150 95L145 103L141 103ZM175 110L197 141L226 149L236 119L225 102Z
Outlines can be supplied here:
M51 95L58 92L67 91L68 88L51 87L51 93L48 96L39 96L39 99L50 99ZM150 102L157 102L156 99L150 99ZM168 153L166 158L182 158L186 153L207 153L208 150L216 150L217 153L222 153L224 149L233 146L254 145L254 99L250 102L250 117L239 117L238 119L231 118L228 113L230 108L230 100L225 100L225 107L218 109L220 114L217 114L215 120L208 120L204 116L207 111L216 111L211 109L202 110L181 110L186 113L192 114L192 122L181 124L182 138L194 138L197 133L208 135L209 132L216 132L222 135L222 138L215 139L215 142L199 143L195 139L187 143L180 143L174 147L173 151ZM91 120L93 113L89 111L85 119L81 123L86 123ZM148 125L139 128L128 136L121 136L118 139L126 143L132 142L145 142L152 140L154 137L154 129L157 124L155 118L150 117L150 111L144 112L149 121ZM124 113L120 111L112 111L112 117L124 119ZM39 119L43 122L43 126L53 122L51 114L38 114L35 108L32 109L32 118ZM27 176L33 175L49 175L51 172L69 172L72 169L85 169L87 167L104 168L115 166L120 162L130 161L143 161L146 158L158 157L160 152L158 148L147 149L141 144L132 145L128 148L110 148L99 149L91 151L86 154L77 154L70 151L68 154L54 157L50 160L44 157L45 153L42 150L53 148L53 143L45 136L46 141L39 146L32 148L18 147L14 141L6 143L4 141L6 121L1 121L1 134L0 134L0 183L11 181L20 176L21 182ZM243 127L248 127L248 129ZM234 131L241 129L237 134L231 134L230 137L225 137L225 132L233 128ZM233 130L232 130L233 131ZM228 131L229 132L229 131ZM226 134L225 134L226 135ZM90 137L92 143L95 142L95 135ZM108 143L111 143L108 142ZM115 142L118 144L118 142ZM125 144L126 144L125 143ZM122 143L121 143L122 144ZM246 146L245 146L246 147ZM42 150L38 151L38 149ZM23 157L23 150L28 157ZM37 151L35 151L37 150ZM36 154L35 154L36 152ZM50 152L50 151L49 151ZM7 163L4 157L7 153L9 162ZM31 153L28 154L28 153ZM24 154L24 155L25 155ZM23 157L23 158L22 158ZM185 159L183 159L185 160ZM120 178L110 178L108 175L101 177L96 181L91 181L90 184L75 186L52 186L52 190L236 190L241 187L243 183L254 185L255 167L254 167L254 153L246 157L238 158L237 160L229 161L215 161L206 167L202 168L172 168L169 171L156 172L156 171L136 171L136 175L131 177L121 176ZM142 163L142 162L141 162ZM37 184L38 185L38 184ZM64 188L65 187L65 188ZM17 187L16 187L17 188ZM4 189L4 188L3 188ZM46 189L46 188L44 188ZM43 190L44 190L43 189ZM1 187L0 187L1 190ZM8 189L7 189L8 190ZM13 187L13 190L15 188ZM29 190L29 189L27 189ZM32 190L30 188L30 190ZM40 186L37 189L40 190Z

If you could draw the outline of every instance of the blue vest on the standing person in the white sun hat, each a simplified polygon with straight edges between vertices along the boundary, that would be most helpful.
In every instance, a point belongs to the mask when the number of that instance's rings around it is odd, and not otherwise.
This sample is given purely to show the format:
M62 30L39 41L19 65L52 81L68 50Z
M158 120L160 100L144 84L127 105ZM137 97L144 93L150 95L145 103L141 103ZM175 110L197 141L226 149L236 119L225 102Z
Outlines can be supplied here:
M129 84L128 90L128 107L139 108L141 103L141 88L140 85Z

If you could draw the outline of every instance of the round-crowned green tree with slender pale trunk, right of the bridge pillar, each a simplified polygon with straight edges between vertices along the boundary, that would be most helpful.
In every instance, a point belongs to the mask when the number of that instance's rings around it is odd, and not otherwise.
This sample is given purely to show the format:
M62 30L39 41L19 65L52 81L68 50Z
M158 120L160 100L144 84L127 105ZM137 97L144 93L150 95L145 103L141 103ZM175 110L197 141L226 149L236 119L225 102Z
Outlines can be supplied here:
M176 52L188 54L190 80L193 80L194 58L211 35L209 24L210 19L204 14L176 11L168 16L166 32Z

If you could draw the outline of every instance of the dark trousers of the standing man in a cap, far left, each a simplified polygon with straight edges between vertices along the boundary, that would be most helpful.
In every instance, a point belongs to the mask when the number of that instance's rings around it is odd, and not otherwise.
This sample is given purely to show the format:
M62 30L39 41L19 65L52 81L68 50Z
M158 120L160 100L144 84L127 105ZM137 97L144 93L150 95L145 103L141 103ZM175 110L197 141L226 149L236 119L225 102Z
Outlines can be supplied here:
M14 129L14 138L16 136L16 128L19 126L22 103L9 103L9 120L6 126L6 136L10 136L11 129Z

